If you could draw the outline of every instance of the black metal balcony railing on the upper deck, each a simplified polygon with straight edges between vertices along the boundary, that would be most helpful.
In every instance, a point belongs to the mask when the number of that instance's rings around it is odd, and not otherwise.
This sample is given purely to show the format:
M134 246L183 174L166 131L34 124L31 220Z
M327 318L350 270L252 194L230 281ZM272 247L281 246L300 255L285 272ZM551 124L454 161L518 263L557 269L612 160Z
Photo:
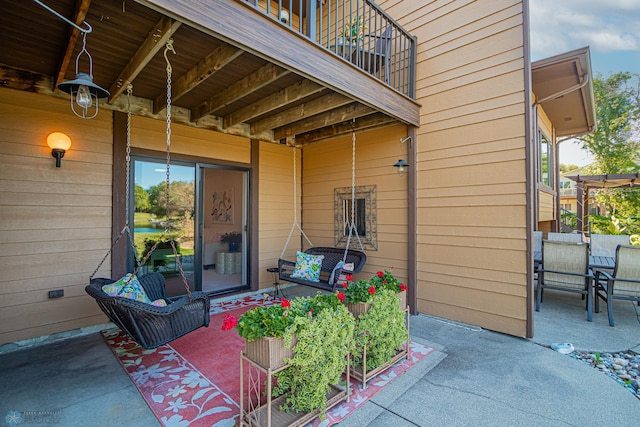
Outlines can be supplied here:
M415 99L416 40L368 0L245 0Z

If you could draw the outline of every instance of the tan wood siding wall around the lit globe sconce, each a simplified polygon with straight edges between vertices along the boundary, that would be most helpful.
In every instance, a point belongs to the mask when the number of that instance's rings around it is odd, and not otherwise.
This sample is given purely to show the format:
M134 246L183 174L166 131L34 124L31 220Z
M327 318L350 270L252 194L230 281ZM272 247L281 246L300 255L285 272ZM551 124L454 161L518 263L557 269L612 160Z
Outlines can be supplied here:
M106 321L84 287L111 246L111 117L0 89L0 344ZM60 168L54 131L72 142Z

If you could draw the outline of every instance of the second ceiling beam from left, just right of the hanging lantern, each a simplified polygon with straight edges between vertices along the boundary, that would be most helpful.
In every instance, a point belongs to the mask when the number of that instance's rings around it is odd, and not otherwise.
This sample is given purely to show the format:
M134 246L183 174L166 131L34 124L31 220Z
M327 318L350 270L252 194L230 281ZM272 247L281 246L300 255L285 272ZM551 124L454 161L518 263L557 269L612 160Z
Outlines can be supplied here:
M112 104L113 101L125 91L127 86L135 80L140 71L151 61L151 58L158 53L160 49L165 47L167 40L180 28L181 23L174 21L166 16L163 16L156 24L155 28L145 41L140 45L138 51L133 55L133 58L124 70L120 72L120 75L115 82L111 84L109 88L109 100L108 104Z

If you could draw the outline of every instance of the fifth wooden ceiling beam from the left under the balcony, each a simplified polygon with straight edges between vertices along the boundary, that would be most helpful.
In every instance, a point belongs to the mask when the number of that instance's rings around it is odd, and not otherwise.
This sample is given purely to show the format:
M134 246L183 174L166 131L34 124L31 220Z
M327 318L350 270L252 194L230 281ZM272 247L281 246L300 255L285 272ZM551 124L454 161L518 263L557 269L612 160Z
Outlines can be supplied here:
M225 127L230 127L238 123L247 122L248 120L285 107L287 104L301 100L322 90L324 90L324 87L317 83L310 80L300 80L271 96L227 115L224 118L224 125Z

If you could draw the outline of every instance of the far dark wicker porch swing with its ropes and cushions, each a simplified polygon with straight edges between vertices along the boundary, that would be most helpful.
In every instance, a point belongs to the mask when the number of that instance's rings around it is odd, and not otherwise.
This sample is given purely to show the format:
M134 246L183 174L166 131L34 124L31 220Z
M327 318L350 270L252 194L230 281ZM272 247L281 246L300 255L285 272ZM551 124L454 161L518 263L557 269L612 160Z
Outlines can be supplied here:
M297 177L296 177L296 146L293 145L293 225L289 236L285 242L280 259L278 260L278 277L281 281L297 283L299 285L312 286L315 288L323 289L333 292L336 287L341 283L339 280L341 277L348 273L359 273L364 267L367 256L364 253L364 245L360 240L357 228L355 225L355 157L356 157L356 134L355 131L351 132L351 217L349 219L349 235L347 238L347 244L345 248L335 248L327 246L313 246L311 240L307 237L302 230L297 220ZM296 261L290 261L284 259L287 246L291 240L291 236L295 229L300 230L302 237L311 245L310 248L305 251L297 251ZM355 235L356 240L360 245L360 250L350 249L351 238ZM319 274L309 275L306 274L304 269L309 263L320 264Z

